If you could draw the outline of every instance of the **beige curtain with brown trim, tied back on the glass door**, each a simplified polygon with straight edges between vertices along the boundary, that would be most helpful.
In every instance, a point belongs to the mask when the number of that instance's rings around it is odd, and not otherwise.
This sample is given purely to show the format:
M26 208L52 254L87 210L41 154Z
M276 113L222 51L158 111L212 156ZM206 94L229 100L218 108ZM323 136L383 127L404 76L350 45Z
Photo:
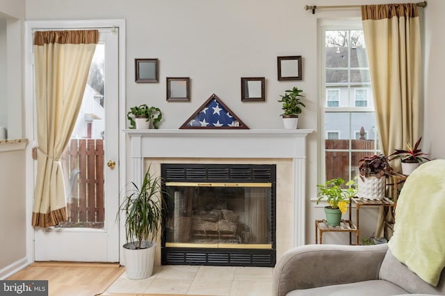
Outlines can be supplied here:
M34 33L38 163L33 226L67 220L59 159L76 123L98 38L97 30Z

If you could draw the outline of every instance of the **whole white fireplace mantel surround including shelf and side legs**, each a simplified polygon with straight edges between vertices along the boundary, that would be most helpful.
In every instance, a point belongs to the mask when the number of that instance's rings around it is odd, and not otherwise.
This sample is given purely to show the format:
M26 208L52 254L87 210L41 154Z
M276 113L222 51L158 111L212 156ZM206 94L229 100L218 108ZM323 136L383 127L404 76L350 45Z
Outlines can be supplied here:
M131 180L139 184L149 158L287 158L293 160L293 245L305 244L306 137L299 130L124 130L131 139Z

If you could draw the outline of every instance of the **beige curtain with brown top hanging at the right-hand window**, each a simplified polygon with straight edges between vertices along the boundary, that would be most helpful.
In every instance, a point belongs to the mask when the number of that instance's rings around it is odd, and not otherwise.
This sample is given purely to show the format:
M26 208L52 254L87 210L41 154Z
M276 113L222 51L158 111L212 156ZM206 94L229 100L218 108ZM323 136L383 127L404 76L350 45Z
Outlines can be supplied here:
M419 138L421 35L416 3L362 6L380 149L385 155ZM400 171L400 162L391 164ZM383 236L382 217L375 232Z

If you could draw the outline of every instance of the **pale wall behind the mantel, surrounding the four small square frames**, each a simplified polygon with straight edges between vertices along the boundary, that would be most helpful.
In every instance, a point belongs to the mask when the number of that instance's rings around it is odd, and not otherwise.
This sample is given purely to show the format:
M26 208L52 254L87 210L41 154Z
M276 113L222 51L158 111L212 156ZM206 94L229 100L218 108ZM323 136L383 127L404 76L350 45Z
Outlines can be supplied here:
M337 0L336 5L392 3L393 0ZM402 1L399 1L402 2ZM405 2L405 1L403 1ZM332 1L295 0L26 0L26 19L126 19L127 109L147 103L163 110L160 128L179 128L215 93L251 129L281 128L280 103L285 89L305 90L307 108L300 128L318 128L317 18L360 17L357 9L317 10L304 6L332 5ZM442 8L442 9L441 9ZM442 0L429 0L426 24L426 125L425 141L435 157L445 157L439 128L444 124L444 97L440 88L445 69L442 49L445 26ZM433 21L434 20L434 26ZM302 55L301 81L277 81L277 56ZM159 83L134 82L134 58L159 58ZM441 67L442 66L442 67ZM191 102L165 101L165 77L190 76ZM266 77L266 103L241 102L241 77ZM442 108L440 108L442 107ZM121 110L121 116L127 110ZM442 124L439 124L441 123ZM434 124L433 124L434 123ZM432 127L432 125L435 125ZM314 243L314 219L322 218L316 197L318 132L309 136L307 159L307 243ZM364 214L370 219L375 214ZM371 234L373 227L367 232ZM326 242L346 239L327 237Z

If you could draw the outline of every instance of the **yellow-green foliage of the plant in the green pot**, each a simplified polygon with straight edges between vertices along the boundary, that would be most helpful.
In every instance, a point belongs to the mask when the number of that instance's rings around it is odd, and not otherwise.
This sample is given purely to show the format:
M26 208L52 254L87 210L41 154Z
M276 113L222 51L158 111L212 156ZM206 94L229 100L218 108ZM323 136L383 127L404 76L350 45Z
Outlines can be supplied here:
M345 214L348 209L350 198L357 193L357 189L355 189L354 185L354 180L345 183L341 177L327 180L325 184L318 184L317 187L319 191L317 204L325 199L332 209L340 209L341 214Z

